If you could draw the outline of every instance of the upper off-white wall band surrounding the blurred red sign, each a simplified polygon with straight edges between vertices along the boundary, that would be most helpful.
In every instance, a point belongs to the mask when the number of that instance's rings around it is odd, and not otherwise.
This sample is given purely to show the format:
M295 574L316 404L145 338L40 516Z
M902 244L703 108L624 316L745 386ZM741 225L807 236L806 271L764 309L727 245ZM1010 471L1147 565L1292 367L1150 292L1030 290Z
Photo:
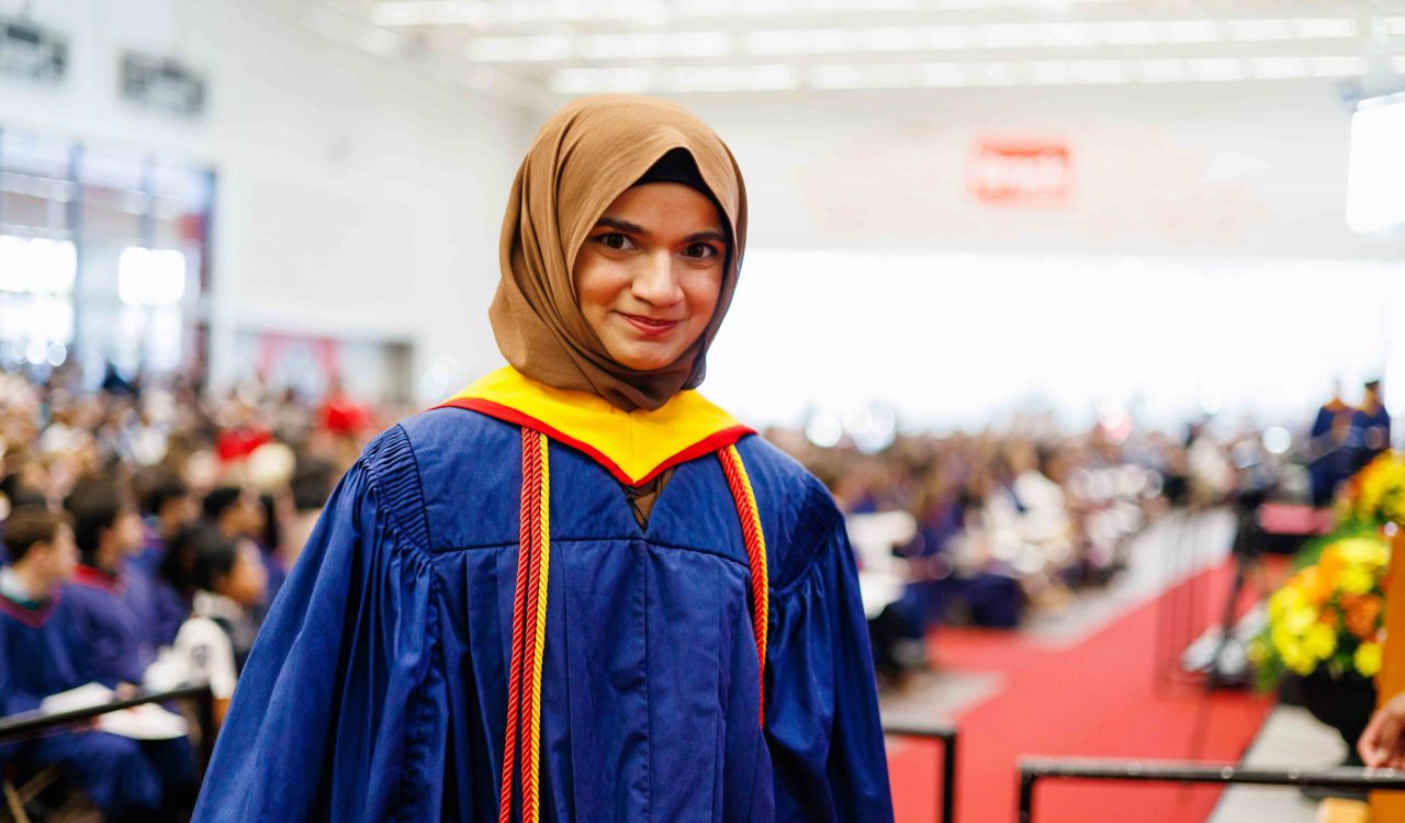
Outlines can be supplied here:
M746 174L756 247L1401 258L1346 226L1335 81L874 91L694 108ZM967 192L979 138L1065 142L1066 208Z

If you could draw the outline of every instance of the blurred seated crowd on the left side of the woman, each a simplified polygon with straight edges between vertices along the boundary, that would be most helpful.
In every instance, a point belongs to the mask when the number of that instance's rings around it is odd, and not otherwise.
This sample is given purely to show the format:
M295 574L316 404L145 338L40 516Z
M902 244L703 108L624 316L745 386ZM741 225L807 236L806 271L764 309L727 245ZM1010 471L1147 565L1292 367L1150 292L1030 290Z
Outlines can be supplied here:
M336 385L202 397L112 369L100 390L0 374L0 715L209 683L218 722L333 485L403 413ZM58 765L108 820L178 819L191 749L153 712L0 747L0 777Z

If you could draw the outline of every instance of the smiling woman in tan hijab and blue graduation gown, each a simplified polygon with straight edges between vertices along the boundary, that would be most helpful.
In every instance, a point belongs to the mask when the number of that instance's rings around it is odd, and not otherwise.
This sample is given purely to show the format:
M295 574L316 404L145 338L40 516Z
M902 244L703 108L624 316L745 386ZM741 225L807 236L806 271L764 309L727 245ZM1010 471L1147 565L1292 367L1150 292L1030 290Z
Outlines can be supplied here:
M842 518L688 390L745 242L688 112L547 122L489 310L511 365L343 478L197 820L891 819Z

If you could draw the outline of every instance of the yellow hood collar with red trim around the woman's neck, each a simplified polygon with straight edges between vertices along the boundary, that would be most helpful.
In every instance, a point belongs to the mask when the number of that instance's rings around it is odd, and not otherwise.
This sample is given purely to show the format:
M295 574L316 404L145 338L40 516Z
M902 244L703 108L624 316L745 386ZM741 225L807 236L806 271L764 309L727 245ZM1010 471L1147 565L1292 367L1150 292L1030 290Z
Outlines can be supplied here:
M584 452L627 486L754 434L694 390L679 392L653 412L622 412L604 397L554 389L513 367L483 376L444 406L537 428Z

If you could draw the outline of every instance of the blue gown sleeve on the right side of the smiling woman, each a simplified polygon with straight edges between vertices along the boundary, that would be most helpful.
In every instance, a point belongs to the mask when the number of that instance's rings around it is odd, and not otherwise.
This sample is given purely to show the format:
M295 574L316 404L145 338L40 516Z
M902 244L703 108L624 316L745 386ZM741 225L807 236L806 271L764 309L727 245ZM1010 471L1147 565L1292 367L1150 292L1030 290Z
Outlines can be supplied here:
M818 485L818 483L816 483ZM843 517L828 493L802 514L792 551L812 551L773 588L766 733L776 819L892 820L868 626ZM809 544L805 546L802 544Z

